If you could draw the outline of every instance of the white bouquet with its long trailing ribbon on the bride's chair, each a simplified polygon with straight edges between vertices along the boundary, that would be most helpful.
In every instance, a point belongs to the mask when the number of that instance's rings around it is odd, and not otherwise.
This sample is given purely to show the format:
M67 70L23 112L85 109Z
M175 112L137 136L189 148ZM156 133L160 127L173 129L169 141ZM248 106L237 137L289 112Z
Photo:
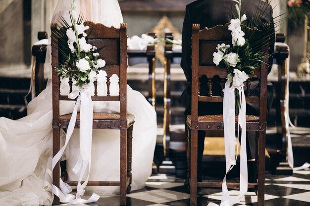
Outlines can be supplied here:
M99 83L104 82L106 72L100 69L103 67L107 68L108 66L105 65L103 59L99 58L99 51L102 48L98 49L96 46L87 43L85 31L89 29L89 26L84 25L83 15L77 15L75 11L76 6L76 0L72 0L70 9L70 23L72 26L63 17L60 17L61 21L53 25L56 26L56 29L52 31L54 33L52 39L56 42L53 46L57 47L60 53L60 62L54 68L57 76L74 81L75 86L78 87L68 95L68 98L76 99L76 103L66 130L65 144L53 157L52 168L60 160L70 140L77 120L78 107L80 106L80 142L82 143L80 143L81 153L76 165L78 166L78 172L84 174L87 169L90 169L91 150L88 145L92 145L93 132L93 102L89 88L90 84L95 81ZM83 157L81 156L82 153L84 154ZM85 192L84 188L87 185L89 173L83 184L81 184L82 177L83 175L79 177L75 197L69 194L72 189L61 178L59 179L60 188L53 185L53 194L62 203L85 204L96 202L100 196L95 193L88 200L81 198Z

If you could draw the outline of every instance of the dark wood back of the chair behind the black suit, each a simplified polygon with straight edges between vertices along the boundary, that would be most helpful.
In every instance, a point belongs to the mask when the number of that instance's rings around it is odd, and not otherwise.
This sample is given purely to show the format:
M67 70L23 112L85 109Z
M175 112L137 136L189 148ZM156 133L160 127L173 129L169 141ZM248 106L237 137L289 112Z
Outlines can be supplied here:
M217 44L231 43L231 31L228 30L228 25L217 25L210 29L199 30L200 25L193 25L193 40L192 40L192 123L198 121L198 102L222 102L223 91L227 69L222 69L213 63L213 52L216 52ZM261 48L263 52L268 51L268 46ZM266 52L267 53L267 52ZM265 57L263 62L267 62ZM259 122L266 123L266 105L267 105L267 64L261 64L260 67L254 70L254 75L250 75L245 85L245 95L247 102L259 102ZM207 78L207 82L201 80ZM219 78L219 81L214 81L214 77ZM251 94L251 80L258 79L259 94ZM207 94L201 94L202 83L207 83ZM219 85L215 85L215 84ZM220 93L213 93L213 88L220 86ZM195 124L196 126L196 124Z

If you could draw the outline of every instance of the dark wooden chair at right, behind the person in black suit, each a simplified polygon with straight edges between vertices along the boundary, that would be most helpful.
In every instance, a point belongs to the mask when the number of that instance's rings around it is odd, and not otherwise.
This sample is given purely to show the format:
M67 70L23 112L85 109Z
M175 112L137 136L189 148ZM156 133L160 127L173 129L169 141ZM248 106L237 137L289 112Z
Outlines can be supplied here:
M216 51L218 43L230 43L231 32L228 30L228 24L218 25L211 29L199 31L200 25L193 24L192 36L192 111L187 116L188 126L188 161L189 161L189 182L191 192L191 206L197 205L197 187L221 187L222 183L215 182L197 182L197 147L198 147L198 130L223 130L223 115L205 115L198 116L198 102L222 102L223 93L219 96L213 96L212 79L214 76L220 78L219 84L224 88L227 70L216 67L212 61L212 54ZM263 47L262 51L267 53L268 48ZM263 59L267 62L267 57ZM200 95L200 80L202 76L207 77L208 95ZM257 77L259 84L259 96L251 96L250 79ZM246 101L259 102L259 116L247 115L247 130L257 131L257 183L249 183L249 188L258 191L258 206L264 204L264 175L265 175L265 132L266 132L266 105L267 105L267 65L262 64L256 68L254 75L250 76L246 82ZM237 122L236 122L237 128ZM239 183L227 183L228 188L238 188Z

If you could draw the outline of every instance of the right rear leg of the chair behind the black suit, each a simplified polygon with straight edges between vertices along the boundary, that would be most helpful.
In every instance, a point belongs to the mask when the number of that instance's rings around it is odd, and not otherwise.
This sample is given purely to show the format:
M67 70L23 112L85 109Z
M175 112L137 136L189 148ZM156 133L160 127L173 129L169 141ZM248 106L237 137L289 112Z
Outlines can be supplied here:
M258 206L264 205L266 132L258 131Z

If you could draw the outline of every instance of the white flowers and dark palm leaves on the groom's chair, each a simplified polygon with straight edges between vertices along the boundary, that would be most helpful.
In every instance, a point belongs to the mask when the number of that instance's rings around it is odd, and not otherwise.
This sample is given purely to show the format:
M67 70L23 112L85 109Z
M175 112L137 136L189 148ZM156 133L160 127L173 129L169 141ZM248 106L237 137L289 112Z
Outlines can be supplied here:
M254 69L259 67L262 59L267 55L260 51L262 45L268 43L268 38L257 40L255 36L262 32L269 32L273 27L273 24L263 24L253 26L252 19L250 23L246 23L246 14L241 17L241 0L236 1L236 9L238 12L237 19L231 19L228 30L231 31L231 42L229 44L218 44L216 49L217 52L213 53L213 63L220 67L226 68L228 71L228 82L234 87L243 87L243 82L249 79L249 75L254 74ZM258 15L259 16L259 15ZM247 38L246 38L247 37ZM259 47L259 46L260 47ZM236 104L235 113L239 113L240 102L239 102L239 91L235 90Z

